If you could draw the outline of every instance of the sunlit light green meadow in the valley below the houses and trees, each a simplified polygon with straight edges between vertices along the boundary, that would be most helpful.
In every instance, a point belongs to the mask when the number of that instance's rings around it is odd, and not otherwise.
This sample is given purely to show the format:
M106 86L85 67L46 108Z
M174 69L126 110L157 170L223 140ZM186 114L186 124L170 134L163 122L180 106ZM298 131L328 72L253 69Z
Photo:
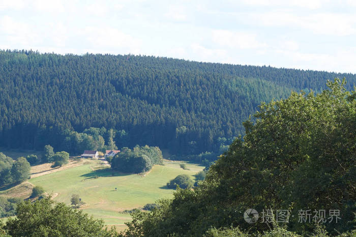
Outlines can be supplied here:
M130 215L119 212L172 197L173 190L165 188L169 180L179 174L193 175L203 169L186 163L190 170L183 170L181 163L184 162L165 161L164 165L155 165L142 175L112 172L101 161L84 160L80 166L34 177L29 182L42 186L47 193L53 194L54 200L67 204L70 204L72 194L79 194L85 202L81 208L84 212L123 229Z

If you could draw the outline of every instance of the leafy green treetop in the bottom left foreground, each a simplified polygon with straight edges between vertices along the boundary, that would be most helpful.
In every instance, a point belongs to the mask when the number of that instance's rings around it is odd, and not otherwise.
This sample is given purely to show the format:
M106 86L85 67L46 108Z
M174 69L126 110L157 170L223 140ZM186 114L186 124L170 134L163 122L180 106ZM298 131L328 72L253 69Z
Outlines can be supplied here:
M11 236L116 236L103 229L104 221L88 217L50 197L17 205L17 215L3 227Z

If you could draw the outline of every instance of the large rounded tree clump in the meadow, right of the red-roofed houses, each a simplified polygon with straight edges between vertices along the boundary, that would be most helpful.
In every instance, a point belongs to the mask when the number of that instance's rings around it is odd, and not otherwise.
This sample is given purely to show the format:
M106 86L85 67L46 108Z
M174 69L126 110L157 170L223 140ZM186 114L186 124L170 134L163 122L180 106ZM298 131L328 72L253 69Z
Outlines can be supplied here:
M148 171L154 164L162 164L163 156L157 146L136 145L133 150L123 147L111 160L111 168L125 173Z

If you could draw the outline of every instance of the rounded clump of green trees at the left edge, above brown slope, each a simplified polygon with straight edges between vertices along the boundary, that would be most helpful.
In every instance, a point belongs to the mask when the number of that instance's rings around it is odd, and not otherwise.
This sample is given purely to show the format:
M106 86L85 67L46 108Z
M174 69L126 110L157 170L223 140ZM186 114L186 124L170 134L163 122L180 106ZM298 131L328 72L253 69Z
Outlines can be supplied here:
M21 183L29 178L31 166L26 158L14 161L0 152L0 186Z

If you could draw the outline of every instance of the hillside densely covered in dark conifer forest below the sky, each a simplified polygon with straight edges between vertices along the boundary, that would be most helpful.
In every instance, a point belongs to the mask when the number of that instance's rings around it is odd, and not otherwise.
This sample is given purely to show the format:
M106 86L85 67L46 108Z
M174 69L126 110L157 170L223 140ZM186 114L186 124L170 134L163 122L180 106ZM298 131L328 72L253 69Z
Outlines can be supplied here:
M0 51L0 146L42 150L65 129L125 130L117 146L212 151L244 133L261 101L320 91L354 74L198 63L134 55ZM225 140L226 138L226 140ZM122 139L122 140L120 140Z

